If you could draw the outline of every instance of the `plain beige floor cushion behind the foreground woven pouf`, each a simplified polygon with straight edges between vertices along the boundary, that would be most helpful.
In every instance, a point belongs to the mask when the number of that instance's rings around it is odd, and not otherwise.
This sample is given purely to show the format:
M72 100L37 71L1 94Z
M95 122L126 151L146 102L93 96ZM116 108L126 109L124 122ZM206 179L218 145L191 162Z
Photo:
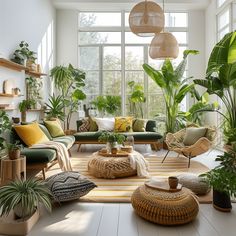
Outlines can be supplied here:
M204 182L204 179L197 174L181 174L178 176L178 179L183 187L192 190L197 195L205 195L210 191L208 183Z

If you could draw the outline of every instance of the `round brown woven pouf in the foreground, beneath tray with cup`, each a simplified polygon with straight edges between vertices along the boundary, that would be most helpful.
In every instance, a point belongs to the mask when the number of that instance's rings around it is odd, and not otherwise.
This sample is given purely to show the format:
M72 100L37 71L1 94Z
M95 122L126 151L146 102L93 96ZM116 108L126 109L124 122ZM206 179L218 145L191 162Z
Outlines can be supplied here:
M134 191L131 203L139 216L161 225L188 223L199 210L197 200L187 188L166 192L143 185Z

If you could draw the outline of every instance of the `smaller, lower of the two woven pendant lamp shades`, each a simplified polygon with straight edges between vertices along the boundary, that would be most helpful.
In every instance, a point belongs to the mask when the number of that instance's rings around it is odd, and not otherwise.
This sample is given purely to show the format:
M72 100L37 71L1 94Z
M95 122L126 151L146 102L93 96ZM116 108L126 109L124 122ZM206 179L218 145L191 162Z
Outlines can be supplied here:
M152 59L177 58L179 45L175 36L169 32L156 34L152 39L149 56Z

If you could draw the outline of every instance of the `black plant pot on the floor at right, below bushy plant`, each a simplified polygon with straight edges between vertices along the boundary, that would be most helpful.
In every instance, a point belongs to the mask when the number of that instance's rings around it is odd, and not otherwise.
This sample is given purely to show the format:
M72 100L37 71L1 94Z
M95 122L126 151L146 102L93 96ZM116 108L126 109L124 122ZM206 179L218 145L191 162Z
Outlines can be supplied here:
M232 209L230 196L213 189L213 207L219 211L230 212Z

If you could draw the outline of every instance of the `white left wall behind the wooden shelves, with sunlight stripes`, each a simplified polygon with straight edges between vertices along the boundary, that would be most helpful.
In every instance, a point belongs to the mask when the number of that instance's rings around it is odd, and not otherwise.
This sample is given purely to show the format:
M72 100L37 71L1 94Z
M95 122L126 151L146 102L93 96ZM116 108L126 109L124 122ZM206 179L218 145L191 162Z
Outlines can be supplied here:
M55 9L49 0L5 0L0 1L0 53L7 59L18 47L20 41L29 43L30 49L38 53L38 63L42 70L48 73L55 61ZM14 81L14 87L19 87L25 94L25 75L23 72L13 72L0 67L0 92L2 82L6 79ZM51 83L49 78L44 78L44 98L48 97ZM13 103L17 107L17 98L2 99L0 103ZM17 111L9 112L17 116ZM29 119L37 118L31 114Z

